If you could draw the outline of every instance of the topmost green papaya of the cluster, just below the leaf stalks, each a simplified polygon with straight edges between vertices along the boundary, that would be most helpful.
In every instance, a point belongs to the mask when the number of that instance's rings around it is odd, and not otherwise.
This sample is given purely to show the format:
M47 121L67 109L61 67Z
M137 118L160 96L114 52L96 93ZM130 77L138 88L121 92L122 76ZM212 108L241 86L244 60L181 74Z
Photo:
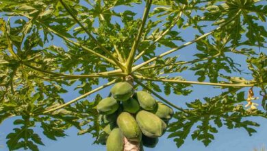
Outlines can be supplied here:
M133 86L128 82L116 83L110 92L116 100L127 101L133 95Z

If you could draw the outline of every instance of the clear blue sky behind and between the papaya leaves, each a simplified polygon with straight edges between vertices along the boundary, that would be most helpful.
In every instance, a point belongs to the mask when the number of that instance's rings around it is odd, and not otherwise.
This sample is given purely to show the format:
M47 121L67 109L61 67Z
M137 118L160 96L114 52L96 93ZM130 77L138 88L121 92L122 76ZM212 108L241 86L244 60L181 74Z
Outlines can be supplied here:
M142 10L144 8L144 5L138 5L138 7L131 8L131 10L134 10L135 12L138 12L136 17L142 16ZM123 11L126 8L117 8L116 11ZM177 27L175 27L177 29ZM213 28L212 28L213 29ZM205 29L205 32L208 32L212 30L211 28L207 27ZM187 30L178 30L181 32L181 36L185 38L186 40L192 40L196 34L196 31L192 28L188 28ZM62 43L62 40L60 38L55 38L52 42L53 44ZM180 44L180 43L179 43ZM257 49L257 48L256 48ZM163 48L158 50L158 53L162 51L168 50L167 48ZM263 50L257 50L257 52L263 51ZM265 50L266 51L266 50ZM195 45L190 45L189 47L183 48L176 53L172 54L179 55L181 60L192 60L194 57L192 54L195 54L197 50L195 49ZM233 60L236 60L236 62L243 62L242 63L242 69L246 69L245 58L231 55ZM186 71L184 73L177 73L175 74L177 76L183 76L186 77L187 80L196 80L196 76L194 76L194 73L192 71ZM236 76L240 76L238 74L232 74ZM246 79L251 79L249 75L244 76ZM160 84L160 83L158 83ZM73 91L74 87L68 88L69 93L66 93L62 95L64 100L67 102L68 100L72 100L75 97L78 97L79 94L77 91ZM169 95L164 96L167 100L170 100L174 104L177 104L178 106L184 106L185 102L191 102L196 99L202 99L203 97L211 97L214 95L218 95L223 90L220 89L214 89L214 86L199 86L194 85L192 87L194 90L190 95L188 96L178 96L178 95ZM242 91L248 91L249 88L242 89ZM255 96L259 97L259 100L256 100L255 102L257 104L261 103L262 97L259 96L259 89L255 90ZM108 94L110 91L110 87L107 87L106 89L103 89L102 91L99 91L101 94ZM94 95L90 95L87 97L88 100L93 100ZM105 95L104 95L105 96ZM244 102L246 103L246 102ZM259 107L259 109L262 109ZM13 119L7 119L3 122L3 124L0 125L0 146L3 146L3 148L0 148L0 150L8 150L7 146L5 145L5 142L7 141L5 139L6 135L8 135L9 132L12 132L12 129L14 128L14 125L12 124ZM267 120L263 119L261 117L250 117L248 119L251 119L253 121L257 121L259 124L261 124L260 127L255 128L257 130L257 133L253 134L252 137L249 137L246 130L241 128L236 128L229 130L226 127L218 128L218 133L214 135L215 140L212 141L212 143L209 144L209 146L205 147L203 143L200 141L192 141L190 135L188 135L188 138L186 139L186 142L181 146L181 148L177 148L175 143L172 139L167 139L168 132L163 136L160 137L160 141L157 144L157 146L153 149L151 148L145 148L146 151L155 150L155 151L162 151L162 150L198 150L198 151L231 151L231 150L242 150L242 151L251 151L253 148L260 148L263 145L267 146ZM38 126L34 128L38 134L42 136L42 131ZM193 128L194 130L194 128ZM73 151L73 150L105 150L105 146L101 145L92 145L94 139L92 139L92 136L90 134L77 136L77 129L70 128L66 131L66 134L68 137L60 138L58 141L51 141L47 139L46 137L42 137L42 141L44 142L45 146L40 146L40 150L44 151L53 151L53 150L65 150L65 151Z

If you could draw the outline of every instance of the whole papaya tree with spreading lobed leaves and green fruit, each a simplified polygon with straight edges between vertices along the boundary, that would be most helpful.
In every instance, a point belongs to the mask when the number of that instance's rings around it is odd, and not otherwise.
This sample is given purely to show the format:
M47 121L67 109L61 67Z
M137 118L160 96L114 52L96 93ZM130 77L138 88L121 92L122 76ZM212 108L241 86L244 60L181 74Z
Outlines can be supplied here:
M107 150L156 148L164 132L177 148L188 135L208 146L222 126L252 135L247 117L267 117L266 1L1 0L0 10L10 150L38 150L40 135L71 127ZM218 95L177 106L197 84Z

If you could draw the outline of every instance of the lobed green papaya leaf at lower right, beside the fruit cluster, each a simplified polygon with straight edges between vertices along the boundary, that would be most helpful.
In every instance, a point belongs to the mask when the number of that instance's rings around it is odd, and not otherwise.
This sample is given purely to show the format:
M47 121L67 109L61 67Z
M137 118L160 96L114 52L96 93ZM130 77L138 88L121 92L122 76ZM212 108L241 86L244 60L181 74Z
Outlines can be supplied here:
M216 97L205 97L204 100L205 102L195 100L186 103L190 109L185 112L177 112L173 116L175 121L168 127L170 132L168 137L174 138L178 148L190 134L192 126L196 126L196 130L193 130L191 134L192 139L202 141L205 146L208 146L215 139L213 134L218 132L216 127L244 128L249 135L252 135L253 132L256 132L254 127L259 124L243 119L257 115L266 117L262 111L250 113L241 104L238 104L244 100L244 92L233 95L226 92ZM215 125L212 124L212 121Z

